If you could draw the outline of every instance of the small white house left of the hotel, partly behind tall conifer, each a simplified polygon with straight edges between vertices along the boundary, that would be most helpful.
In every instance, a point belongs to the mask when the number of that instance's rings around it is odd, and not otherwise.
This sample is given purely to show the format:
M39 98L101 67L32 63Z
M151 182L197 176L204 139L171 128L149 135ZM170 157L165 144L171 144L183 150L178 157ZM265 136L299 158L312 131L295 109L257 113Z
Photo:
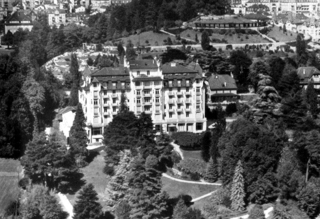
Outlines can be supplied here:
M69 138L69 132L73 125L73 120L76 115L76 107L68 106L58 111L56 119L59 121L59 129L63 132L66 138Z

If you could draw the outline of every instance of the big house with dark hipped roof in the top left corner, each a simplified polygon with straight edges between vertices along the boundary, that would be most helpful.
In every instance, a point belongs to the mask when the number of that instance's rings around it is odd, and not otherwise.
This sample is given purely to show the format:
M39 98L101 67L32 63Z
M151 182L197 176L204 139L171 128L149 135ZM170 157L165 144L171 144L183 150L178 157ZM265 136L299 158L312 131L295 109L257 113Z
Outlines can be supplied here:
M30 14L26 11L15 11L8 16L4 21L4 33L6 34L9 30L13 34L19 28L28 29L31 31L33 27L32 19Z

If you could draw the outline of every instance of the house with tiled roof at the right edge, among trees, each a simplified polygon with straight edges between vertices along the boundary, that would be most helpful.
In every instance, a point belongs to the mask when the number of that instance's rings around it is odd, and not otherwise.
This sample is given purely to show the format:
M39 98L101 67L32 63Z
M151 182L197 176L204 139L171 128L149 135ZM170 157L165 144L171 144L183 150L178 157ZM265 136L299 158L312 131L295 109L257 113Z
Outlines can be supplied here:
M300 67L297 69L300 79L300 87L307 89L310 81L313 81L314 88L320 89L320 71L315 67Z

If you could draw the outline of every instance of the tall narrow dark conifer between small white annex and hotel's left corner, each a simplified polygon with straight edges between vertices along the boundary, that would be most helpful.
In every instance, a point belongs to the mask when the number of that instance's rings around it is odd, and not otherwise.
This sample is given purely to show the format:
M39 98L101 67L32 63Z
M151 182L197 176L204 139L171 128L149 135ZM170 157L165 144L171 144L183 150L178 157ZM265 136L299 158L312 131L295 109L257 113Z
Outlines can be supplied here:
M78 103L75 119L70 128L70 151L76 160L78 167L86 165L85 159L88 156L87 133L85 131L85 117L82 110L82 104Z

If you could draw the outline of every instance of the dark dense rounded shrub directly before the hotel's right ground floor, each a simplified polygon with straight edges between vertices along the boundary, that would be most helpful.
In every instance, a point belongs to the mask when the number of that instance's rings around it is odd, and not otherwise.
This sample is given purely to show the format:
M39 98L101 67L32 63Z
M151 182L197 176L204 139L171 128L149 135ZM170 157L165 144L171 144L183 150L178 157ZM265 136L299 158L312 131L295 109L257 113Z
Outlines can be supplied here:
M183 149L197 149L201 146L202 135L192 132L174 132L171 138Z

